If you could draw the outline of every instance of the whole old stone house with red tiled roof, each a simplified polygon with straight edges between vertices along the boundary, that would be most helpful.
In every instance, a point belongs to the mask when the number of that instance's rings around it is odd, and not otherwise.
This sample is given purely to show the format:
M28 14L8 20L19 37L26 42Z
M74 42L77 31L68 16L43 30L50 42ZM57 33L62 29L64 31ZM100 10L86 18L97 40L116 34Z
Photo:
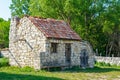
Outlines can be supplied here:
M11 19L9 61L13 66L35 69L93 67L94 55L65 21L27 16Z

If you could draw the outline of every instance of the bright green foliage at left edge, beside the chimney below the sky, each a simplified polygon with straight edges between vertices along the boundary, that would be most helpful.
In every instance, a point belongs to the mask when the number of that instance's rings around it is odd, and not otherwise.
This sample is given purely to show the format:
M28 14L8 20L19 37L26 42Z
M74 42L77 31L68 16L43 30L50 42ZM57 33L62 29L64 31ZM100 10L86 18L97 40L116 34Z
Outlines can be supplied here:
M8 47L10 21L0 19L0 48Z

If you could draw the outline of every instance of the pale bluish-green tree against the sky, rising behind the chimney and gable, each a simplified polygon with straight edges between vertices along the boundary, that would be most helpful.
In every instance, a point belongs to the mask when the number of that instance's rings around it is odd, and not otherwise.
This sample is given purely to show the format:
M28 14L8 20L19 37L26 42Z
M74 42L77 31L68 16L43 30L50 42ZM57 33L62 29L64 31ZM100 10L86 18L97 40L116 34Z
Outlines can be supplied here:
M29 15L29 2L30 0L12 0L12 4L10 5L11 15L18 17Z

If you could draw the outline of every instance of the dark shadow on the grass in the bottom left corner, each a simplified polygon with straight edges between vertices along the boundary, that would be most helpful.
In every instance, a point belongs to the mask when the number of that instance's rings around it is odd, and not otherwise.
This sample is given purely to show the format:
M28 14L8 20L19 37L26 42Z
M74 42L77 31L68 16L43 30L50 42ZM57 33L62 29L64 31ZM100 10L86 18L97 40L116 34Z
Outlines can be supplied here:
M63 80L56 77L45 77L25 74L10 74L0 72L0 80Z

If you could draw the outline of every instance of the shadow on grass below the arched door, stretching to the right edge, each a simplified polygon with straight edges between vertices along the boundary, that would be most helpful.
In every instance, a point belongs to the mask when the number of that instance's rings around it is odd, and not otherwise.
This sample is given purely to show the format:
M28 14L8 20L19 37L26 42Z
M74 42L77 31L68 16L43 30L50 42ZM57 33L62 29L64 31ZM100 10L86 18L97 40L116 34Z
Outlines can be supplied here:
M111 72L111 71L120 72L120 69L117 69L117 68L101 68L101 67L81 69L79 67L73 67L71 69L66 69L63 72L104 73L104 72Z

